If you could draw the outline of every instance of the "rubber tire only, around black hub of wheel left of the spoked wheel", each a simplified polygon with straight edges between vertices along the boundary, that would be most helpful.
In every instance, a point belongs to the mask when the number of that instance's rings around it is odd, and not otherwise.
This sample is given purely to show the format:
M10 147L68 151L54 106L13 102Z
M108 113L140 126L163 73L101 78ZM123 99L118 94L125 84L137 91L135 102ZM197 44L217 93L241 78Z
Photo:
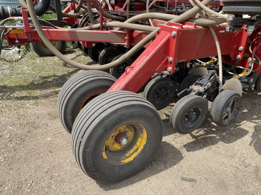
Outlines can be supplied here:
M187 127L184 125L184 118L186 113L192 109L201 109L200 117L197 123L193 126ZM208 101L201 96L187 95L182 97L172 108L170 113L170 124L174 130L180 134L188 134L194 131L204 121L207 115Z

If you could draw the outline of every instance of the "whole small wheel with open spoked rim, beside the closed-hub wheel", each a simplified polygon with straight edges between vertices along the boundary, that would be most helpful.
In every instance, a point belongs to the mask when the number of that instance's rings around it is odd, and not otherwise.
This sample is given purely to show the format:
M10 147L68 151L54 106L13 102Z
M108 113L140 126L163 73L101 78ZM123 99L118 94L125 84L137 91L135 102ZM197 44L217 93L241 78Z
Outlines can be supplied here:
M211 109L210 117L218 126L227 127L236 118L241 106L241 96L231 90L224 90L217 95Z

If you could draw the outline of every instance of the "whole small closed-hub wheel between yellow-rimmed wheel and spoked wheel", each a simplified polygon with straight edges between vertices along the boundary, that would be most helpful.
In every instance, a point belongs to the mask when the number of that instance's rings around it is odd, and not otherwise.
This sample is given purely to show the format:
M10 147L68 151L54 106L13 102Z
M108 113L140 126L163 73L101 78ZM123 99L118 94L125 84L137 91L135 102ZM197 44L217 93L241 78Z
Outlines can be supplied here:
M170 113L170 123L180 134L194 131L206 118L208 101L201 96L182 97Z

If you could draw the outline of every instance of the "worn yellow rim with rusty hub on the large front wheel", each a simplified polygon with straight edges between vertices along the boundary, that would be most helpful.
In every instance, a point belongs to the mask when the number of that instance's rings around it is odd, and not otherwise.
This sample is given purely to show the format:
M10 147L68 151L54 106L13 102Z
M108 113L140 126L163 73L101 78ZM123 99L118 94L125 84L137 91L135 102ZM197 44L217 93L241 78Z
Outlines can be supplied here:
M108 131L109 129L107 129ZM126 138L126 144L121 145ZM113 165L123 165L135 159L147 140L146 129L139 123L125 124L115 129L105 141L103 158Z

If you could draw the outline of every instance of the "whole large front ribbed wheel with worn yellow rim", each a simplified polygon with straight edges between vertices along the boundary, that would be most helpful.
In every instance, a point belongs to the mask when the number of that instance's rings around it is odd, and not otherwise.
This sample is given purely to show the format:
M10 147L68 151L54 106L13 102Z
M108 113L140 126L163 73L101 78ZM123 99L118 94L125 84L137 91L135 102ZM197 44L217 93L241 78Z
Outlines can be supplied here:
M162 129L161 117L149 101L133 92L107 92L77 116L73 154L89 177L115 183L150 163L161 144Z

